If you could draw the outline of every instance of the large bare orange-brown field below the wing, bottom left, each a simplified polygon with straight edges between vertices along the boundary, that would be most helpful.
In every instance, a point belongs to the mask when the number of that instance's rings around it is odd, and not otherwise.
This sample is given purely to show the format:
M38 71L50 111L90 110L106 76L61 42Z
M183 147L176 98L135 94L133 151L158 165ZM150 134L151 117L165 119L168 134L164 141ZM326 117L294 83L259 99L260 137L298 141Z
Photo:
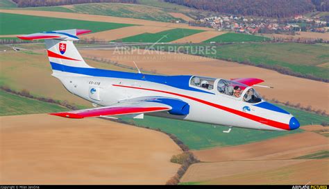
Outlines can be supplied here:
M0 117L0 184L165 184L180 148L164 133L91 118Z

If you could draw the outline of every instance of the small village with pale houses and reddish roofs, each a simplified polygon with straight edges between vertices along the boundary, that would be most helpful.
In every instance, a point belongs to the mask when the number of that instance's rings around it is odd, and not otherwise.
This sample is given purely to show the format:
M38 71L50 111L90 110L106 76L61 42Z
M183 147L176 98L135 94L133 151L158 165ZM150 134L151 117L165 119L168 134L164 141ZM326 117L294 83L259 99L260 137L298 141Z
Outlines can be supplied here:
M326 33L329 31L328 17L305 17L296 15L292 18L271 19L265 17L243 17L235 15L217 15L204 17L192 26L208 26L218 31L234 31L235 33L285 33L294 34L299 31Z

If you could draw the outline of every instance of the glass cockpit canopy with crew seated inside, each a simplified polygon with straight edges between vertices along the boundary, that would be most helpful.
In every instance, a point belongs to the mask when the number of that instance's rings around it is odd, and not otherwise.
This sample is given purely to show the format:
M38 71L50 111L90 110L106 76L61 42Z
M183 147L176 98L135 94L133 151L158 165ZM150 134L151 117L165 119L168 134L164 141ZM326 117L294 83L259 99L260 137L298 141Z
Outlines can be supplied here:
M262 101L262 97L254 88L235 81L192 76L189 84L195 88L214 92L215 94L227 95L228 97L246 101L251 104Z

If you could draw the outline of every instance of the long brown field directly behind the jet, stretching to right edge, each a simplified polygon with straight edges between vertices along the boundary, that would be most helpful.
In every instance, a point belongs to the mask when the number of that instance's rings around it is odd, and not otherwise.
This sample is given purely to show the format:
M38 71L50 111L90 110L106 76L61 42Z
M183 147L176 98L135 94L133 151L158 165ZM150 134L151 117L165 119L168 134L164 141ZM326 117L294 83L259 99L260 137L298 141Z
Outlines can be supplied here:
M269 85L273 89L257 88L267 99L289 101L291 104L301 103L302 106L312 106L315 109L329 111L327 103L328 92L319 89L329 88L328 83L301 79L294 76L279 74L278 72L241 65L239 63L203 58L187 54L174 54L159 51L113 51L113 50L81 50L83 56L108 58L120 64L134 66L133 61L140 68L153 70L161 74L194 74L212 76L215 78L255 77L264 79L261 85Z

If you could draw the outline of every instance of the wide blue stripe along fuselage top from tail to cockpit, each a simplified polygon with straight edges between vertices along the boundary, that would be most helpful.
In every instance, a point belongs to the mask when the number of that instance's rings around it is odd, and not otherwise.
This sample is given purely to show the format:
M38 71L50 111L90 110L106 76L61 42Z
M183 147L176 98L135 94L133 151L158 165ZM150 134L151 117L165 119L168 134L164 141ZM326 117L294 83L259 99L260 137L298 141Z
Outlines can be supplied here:
M180 88L183 90L192 90L196 92L205 92L209 94L214 94L212 92L207 92L204 90L199 90L196 88L189 87L189 79L191 76L158 76L158 75L149 75L149 74L136 74L129 72L119 72L107 69L98 69L98 68L89 68L89 67L71 67L67 65L61 65L58 63L52 63L51 68L62 71L69 72L74 74L83 74L87 76L101 76L101 77L110 77L110 78L121 78L121 79L135 79L140 81L149 81L154 83L160 83L163 85L169 85L174 88Z

